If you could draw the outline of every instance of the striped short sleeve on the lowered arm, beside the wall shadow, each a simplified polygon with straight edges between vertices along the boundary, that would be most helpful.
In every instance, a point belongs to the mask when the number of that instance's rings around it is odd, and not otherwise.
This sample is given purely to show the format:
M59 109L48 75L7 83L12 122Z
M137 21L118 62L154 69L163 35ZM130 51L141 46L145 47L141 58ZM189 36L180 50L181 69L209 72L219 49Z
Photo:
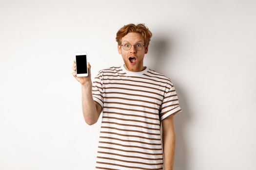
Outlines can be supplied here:
M174 85L169 86L170 89L164 94L164 98L160 107L159 119L162 121L170 115L175 115L181 112L181 108L178 102L178 96Z

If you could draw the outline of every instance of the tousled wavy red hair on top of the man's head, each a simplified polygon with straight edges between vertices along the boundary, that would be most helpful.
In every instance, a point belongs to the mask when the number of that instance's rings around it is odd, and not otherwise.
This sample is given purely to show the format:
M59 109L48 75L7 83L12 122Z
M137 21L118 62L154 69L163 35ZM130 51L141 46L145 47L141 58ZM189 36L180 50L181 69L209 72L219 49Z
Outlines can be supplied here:
M144 39L145 47L149 45L150 38L152 37L151 31L149 31L148 27L146 27L144 24L128 24L124 25L117 32L116 41L118 42L118 45L121 45L122 37L128 33L141 34Z

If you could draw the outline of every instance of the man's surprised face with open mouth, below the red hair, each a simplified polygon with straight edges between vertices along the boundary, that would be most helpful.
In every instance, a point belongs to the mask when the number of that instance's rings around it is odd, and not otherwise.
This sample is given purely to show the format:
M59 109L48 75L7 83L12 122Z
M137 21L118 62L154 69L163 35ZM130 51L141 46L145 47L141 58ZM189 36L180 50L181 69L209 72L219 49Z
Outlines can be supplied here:
M142 35L138 33L128 33L121 39L121 44L130 43L136 45L141 43L144 45L144 39ZM135 46L132 46L130 50L124 50L122 46L118 45L118 52L122 54L124 64L130 71L142 71L144 55L148 52L148 47L143 47L142 50L136 50ZM129 60L134 57L135 59Z

